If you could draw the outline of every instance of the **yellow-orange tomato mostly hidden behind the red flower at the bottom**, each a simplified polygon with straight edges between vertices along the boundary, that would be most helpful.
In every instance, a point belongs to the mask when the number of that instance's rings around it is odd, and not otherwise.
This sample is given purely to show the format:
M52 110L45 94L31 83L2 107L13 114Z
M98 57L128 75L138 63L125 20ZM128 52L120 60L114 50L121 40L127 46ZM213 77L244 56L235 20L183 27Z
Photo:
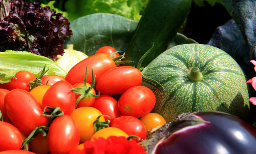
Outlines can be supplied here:
M107 139L110 136L124 136L128 137L129 135L126 134L123 130L116 128L116 127L106 127L99 131L97 131L93 137L91 137L91 141L94 141L94 139L97 139L99 137L103 137L104 139Z

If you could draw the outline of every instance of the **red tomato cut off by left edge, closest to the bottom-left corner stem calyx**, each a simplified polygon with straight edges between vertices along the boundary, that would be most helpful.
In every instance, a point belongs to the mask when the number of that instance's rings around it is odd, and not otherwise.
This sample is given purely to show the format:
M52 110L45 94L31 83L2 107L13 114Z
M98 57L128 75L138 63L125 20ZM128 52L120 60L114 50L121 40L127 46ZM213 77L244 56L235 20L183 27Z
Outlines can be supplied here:
M22 145L20 131L8 122L0 121L0 151L19 150Z

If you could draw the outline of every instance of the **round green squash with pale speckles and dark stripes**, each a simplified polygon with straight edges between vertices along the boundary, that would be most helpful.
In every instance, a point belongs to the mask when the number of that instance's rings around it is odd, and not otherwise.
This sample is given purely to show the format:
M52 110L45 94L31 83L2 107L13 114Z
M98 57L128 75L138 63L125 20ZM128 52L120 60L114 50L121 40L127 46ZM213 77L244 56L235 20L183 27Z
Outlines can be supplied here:
M209 45L172 47L155 58L143 71L165 91L152 89L159 113L168 122L189 111L223 111L249 118L249 96L241 67L223 50Z

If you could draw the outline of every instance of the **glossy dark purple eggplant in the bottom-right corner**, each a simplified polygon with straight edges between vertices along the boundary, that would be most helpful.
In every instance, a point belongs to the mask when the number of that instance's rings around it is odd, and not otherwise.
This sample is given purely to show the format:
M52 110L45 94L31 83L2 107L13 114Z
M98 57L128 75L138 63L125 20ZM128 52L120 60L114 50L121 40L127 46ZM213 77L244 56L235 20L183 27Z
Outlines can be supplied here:
M227 113L183 113L148 132L148 154L256 154L256 129Z

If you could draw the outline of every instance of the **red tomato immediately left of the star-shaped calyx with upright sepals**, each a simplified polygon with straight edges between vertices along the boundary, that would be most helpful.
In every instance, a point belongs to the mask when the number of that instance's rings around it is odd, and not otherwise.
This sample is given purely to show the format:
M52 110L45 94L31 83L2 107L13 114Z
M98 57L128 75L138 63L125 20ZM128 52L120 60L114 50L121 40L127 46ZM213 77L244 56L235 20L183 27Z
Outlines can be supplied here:
M60 107L64 114L71 115L75 109L75 93L72 92L72 88L71 84L65 80L54 83L43 96L43 108Z

